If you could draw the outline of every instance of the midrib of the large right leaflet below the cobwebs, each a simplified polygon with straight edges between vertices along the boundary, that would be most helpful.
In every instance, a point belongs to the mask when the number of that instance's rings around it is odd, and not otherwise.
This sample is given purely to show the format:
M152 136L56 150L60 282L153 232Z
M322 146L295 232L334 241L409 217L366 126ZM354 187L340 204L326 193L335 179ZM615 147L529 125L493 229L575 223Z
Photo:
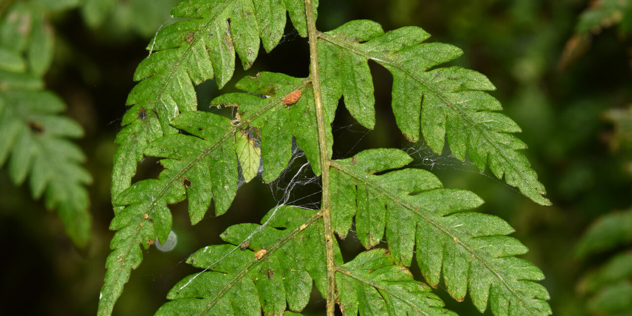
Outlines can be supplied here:
M439 222L435 222L434 220L432 220L430 217L425 216L425 214L422 214L420 212L418 212L418 208L414 207L413 205L411 205L410 203L402 200L401 198L397 197L396 195L394 195L391 191L389 190L384 190L382 188L382 186L378 185L377 183L374 183L372 181L370 181L370 178L367 178L365 176L362 176L360 174L357 174L353 171L351 171L350 169L342 166L341 164L339 164L337 161L332 161L331 162L331 166L335 167L336 169L343 171L344 173L348 174L349 176L358 179L358 181L365 183L365 185L369 185L372 188L374 188L377 191L380 191L380 193L382 193L383 195L386 195L387 197L391 198L391 200L393 200L394 202L396 202L399 205L402 205L403 207L405 207L406 209L410 210L411 212L413 212L413 214L422 217L422 219L424 219L425 221L427 221L428 223L432 224L432 226L434 226L435 228L439 229L440 231L442 231L443 233L447 234L448 236L450 236L450 238L456 242L459 243L459 245L463 246L463 248L465 248L466 250L468 250L468 252L470 252L474 257L476 257L478 259L478 261L480 261L483 265L485 265L485 267L492 272L492 274L494 274L494 276L496 276L501 282L502 284L504 284L504 286L511 291L511 293L518 299L518 301L520 301L521 304L523 304L523 306L525 307L529 307L528 310L531 312L532 308L530 307L530 305L528 305L524 300L522 300L522 298L517 294L518 290L514 289L509 283L507 283L506 279L501 275L500 272L497 272L497 270L494 269L494 266L490 263L487 262L487 260L485 260L485 258L483 258L480 254L478 254L477 252L475 252L475 250L473 248L471 248L470 246L466 245L466 243L464 243L461 238L459 238L458 236L456 236L456 234L451 233L451 231L449 231L449 229L444 228L444 226L442 226L441 224L439 224ZM535 313L532 312L532 315L537 315Z

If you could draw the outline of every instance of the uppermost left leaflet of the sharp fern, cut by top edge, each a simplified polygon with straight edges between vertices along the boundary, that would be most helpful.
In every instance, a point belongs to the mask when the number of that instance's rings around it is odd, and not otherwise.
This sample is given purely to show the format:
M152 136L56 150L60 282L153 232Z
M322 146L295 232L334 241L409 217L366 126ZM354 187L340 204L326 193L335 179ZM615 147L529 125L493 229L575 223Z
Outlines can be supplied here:
M233 76L235 52L248 69L257 58L259 39L267 51L276 46L283 35L286 10L305 35L299 0L187 0L171 11L190 20L158 32L147 47L149 57L134 74L140 82L128 96L132 107L123 118L125 128L116 137L112 199L130 186L147 143L177 133L169 121L180 112L197 109L194 85L216 78L221 88Z

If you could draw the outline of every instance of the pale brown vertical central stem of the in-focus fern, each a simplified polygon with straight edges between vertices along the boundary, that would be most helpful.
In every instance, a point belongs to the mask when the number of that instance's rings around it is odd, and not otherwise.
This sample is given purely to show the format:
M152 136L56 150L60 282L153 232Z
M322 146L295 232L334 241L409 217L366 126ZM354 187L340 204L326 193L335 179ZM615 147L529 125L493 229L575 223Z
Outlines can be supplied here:
M325 114L320 94L320 76L318 65L318 31L312 0L305 0L307 31L310 41L310 73L316 107L316 123L320 150L320 170L322 172L322 220L325 226L325 257L327 258L327 316L334 316L336 306L336 263L334 262L334 229L331 224L331 195L329 193L329 152L325 135Z

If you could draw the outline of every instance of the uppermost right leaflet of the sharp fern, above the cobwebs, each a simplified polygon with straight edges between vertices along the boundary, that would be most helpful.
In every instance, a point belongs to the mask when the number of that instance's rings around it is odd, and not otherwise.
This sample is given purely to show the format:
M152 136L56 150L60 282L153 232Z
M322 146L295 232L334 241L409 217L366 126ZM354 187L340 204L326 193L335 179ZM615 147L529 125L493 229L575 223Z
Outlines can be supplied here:
M375 124L373 86L368 60L381 64L393 76L392 109L404 136L412 142L420 133L441 154L447 135L449 148L459 160L469 154L480 169L516 186L526 197L550 205L544 185L530 167L525 143L510 133L520 127L504 114L498 100L487 94L495 87L487 77L460 67L433 68L461 56L457 47L422 43L430 35L418 27L387 33L374 21L350 21L319 34L320 78L325 104L344 103L367 128Z

